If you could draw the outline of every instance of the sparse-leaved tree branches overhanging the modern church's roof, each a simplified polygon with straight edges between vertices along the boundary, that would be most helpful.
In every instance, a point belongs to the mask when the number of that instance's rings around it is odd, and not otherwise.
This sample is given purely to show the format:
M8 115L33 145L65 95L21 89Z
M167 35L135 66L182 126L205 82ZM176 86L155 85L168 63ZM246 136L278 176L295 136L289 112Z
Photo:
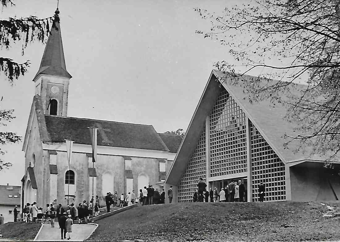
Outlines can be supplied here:
M234 59L215 63L226 73L222 81L242 85L251 101L286 105L286 119L299 131L286 145L298 140L297 149L312 146L312 153L334 158L340 150L340 1L256 0L220 15L195 11L211 22L209 31L196 32ZM252 72L260 74L242 81ZM294 84L299 81L307 86Z

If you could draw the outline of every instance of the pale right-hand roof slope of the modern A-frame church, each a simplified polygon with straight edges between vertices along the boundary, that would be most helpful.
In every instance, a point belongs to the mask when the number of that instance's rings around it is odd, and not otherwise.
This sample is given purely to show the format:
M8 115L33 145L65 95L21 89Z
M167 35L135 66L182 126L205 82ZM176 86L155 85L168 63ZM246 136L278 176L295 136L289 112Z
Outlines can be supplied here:
M225 74L213 70L213 73L217 77L224 77ZM247 79L251 76L244 76L242 79L248 81ZM296 89L304 89L307 86L302 84L295 84ZM298 140L293 140L289 145L289 149L284 148L284 143L288 141L288 138L284 139L284 135L296 136L298 132L295 131L295 127L299 125L297 123L288 122L285 119L287 114L288 106L283 106L277 103L275 107L271 104L269 100L264 100L260 102L250 103L248 100L248 95L244 88L242 87L242 82L237 85L230 84L229 82L224 82L223 86L228 89L232 97L240 104L242 110L247 113L257 127L260 133L266 138L266 141L273 146L272 148L276 150L285 161L293 160L303 160L303 159L314 159L314 160L324 160L329 158L329 155L311 155L312 147L305 146L302 150L298 152L293 152L295 148L298 148L300 142ZM245 98L245 99L244 99Z

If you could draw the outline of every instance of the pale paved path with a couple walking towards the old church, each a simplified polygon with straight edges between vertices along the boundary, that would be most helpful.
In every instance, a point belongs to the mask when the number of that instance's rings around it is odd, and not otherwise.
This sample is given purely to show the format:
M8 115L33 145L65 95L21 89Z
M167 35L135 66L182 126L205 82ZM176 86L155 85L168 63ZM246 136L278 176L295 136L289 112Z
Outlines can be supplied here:
M96 225L93 224L73 224L71 239L62 240L58 223L54 224L54 228L49 224L44 224L36 241L84 241L94 229Z

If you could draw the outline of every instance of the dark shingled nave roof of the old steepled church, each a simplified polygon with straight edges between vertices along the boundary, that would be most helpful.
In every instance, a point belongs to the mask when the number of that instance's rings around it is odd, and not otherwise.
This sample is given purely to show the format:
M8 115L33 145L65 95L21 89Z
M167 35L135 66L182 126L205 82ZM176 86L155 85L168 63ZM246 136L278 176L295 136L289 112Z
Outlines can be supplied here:
M45 115L49 141L91 144L87 127L98 128L97 144L124 148L169 151L152 125Z

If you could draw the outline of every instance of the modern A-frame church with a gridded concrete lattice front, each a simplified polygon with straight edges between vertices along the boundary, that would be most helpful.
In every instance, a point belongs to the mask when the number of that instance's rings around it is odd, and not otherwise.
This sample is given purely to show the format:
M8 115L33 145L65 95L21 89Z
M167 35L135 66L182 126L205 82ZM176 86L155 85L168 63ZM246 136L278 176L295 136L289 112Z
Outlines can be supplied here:
M250 77L242 78L236 84L220 71L211 72L166 178L173 201L191 202L200 177L218 191L241 180L248 202L259 200L261 182L265 201L339 200L339 176L323 168L327 157L310 155L308 147L294 153L298 141L285 149L283 136L296 135L294 124L284 120L287 107L249 102L242 83Z

